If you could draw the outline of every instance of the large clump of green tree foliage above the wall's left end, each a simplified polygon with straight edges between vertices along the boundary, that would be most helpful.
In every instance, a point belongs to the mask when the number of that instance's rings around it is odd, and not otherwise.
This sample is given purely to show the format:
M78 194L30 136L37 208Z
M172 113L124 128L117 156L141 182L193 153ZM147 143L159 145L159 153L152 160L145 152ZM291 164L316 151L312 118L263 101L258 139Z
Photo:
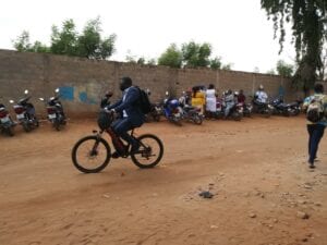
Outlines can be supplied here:
M14 40L14 47L22 52L51 52L105 60L114 52L116 35L112 34L102 38L100 26L99 17L90 20L84 26L83 32L78 34L74 21L70 19L62 23L61 28L56 25L52 26L50 47L39 41L32 45L29 34L26 30Z

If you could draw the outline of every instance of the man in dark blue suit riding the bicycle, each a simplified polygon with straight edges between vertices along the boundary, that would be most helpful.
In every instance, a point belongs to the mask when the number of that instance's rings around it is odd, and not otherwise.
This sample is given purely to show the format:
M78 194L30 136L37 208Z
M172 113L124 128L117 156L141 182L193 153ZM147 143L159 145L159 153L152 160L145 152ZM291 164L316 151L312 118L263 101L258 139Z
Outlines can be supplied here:
M134 127L140 127L144 123L145 117L140 107L141 94L140 89L133 86L130 77L122 77L119 87L123 93L122 98L106 109L111 113L119 114L111 127L119 137L131 144L131 154L133 154L138 150L140 143L128 132ZM120 156L118 151L112 154L112 158L119 158Z

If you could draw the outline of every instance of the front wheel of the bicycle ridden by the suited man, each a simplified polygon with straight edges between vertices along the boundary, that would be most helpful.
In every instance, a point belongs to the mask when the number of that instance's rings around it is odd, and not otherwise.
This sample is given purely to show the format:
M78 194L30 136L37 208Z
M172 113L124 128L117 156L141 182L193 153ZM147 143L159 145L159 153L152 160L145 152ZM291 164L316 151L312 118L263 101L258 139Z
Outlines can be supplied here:
M81 138L72 150L72 160L83 173L97 173L104 170L111 158L109 144L96 135Z

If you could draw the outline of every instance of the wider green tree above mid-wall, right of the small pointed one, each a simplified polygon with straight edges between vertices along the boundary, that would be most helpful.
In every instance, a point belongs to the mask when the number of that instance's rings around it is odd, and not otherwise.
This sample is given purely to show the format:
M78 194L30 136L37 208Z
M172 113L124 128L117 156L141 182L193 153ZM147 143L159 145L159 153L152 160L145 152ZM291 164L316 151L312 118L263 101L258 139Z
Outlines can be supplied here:
M190 41L182 45L183 62L186 68L209 66L210 54L211 46L207 42L201 45L194 41Z

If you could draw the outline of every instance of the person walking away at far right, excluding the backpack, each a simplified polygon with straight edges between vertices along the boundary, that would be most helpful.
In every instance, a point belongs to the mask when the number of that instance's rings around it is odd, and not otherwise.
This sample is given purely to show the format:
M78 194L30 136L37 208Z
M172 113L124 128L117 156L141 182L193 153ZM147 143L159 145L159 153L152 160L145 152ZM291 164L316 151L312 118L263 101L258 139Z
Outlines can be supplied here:
M315 168L315 160L317 158L318 145L324 136L325 127L327 126L327 96L324 95L323 84L316 84L314 87L314 95L304 99L303 109L307 109L313 100L319 100L323 105L324 115L318 122L307 121L308 133L308 164L310 168Z

